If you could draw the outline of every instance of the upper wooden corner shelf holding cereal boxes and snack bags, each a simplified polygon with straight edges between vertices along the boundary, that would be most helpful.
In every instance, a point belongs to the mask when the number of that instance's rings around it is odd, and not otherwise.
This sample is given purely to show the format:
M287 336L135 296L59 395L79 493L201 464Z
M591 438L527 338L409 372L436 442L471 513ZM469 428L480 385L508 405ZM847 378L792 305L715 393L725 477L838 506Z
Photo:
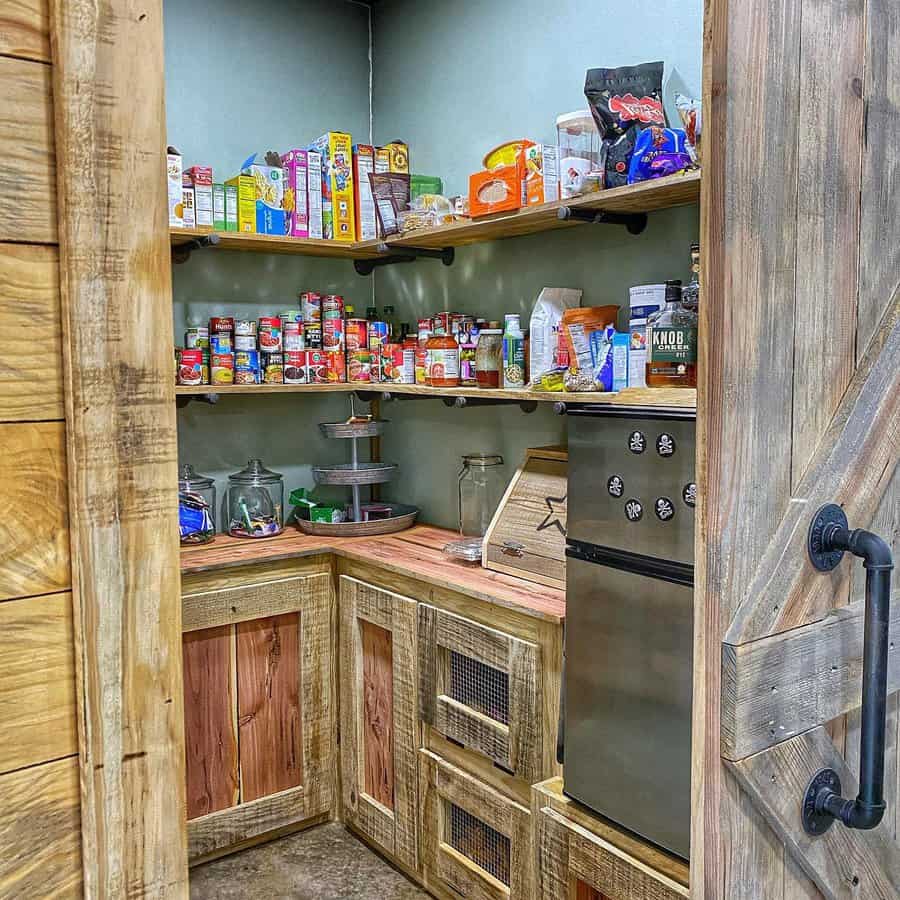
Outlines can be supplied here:
M576 197L531 206L514 213L466 220L439 228L422 229L402 238L381 241L319 241L304 238L279 237L266 234L242 234L235 231L215 232L217 246L222 250L250 250L256 253L293 253L300 256L324 256L332 259L376 259L387 256L393 248L419 247L442 249L462 247L483 241L520 237L557 228L571 228L583 224L559 218L559 210L589 210L619 214L648 213L673 206L688 206L700 199L700 173L697 171L654 181L644 181L627 187L611 188ZM170 229L173 247L187 244L195 238L212 233L209 228Z

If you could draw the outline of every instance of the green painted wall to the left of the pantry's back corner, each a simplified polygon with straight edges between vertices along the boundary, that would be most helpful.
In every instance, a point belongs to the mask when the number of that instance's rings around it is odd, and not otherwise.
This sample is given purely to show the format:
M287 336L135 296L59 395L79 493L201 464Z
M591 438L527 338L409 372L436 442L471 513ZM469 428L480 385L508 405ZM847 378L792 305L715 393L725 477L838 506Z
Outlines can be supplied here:
M228 178L254 150L304 146L329 129L369 135L369 11L349 2L165 0L168 141L185 165ZM198 28L198 23L202 27ZM209 250L173 267L175 334L211 315L258 318L295 307L302 290L371 303L372 280L345 262ZM285 475L286 493L312 487L310 467L342 462L348 449L325 441L318 422L347 415L345 397L228 397L178 413L181 462L216 478L251 456ZM342 493L339 496L343 497ZM217 520L221 523L221 517Z

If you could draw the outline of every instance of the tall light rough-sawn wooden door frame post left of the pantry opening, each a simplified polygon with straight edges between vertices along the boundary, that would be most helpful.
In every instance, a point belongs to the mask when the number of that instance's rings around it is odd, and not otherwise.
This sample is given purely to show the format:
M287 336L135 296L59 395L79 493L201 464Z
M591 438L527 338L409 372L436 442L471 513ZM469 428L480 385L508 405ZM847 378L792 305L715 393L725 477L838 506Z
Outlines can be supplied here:
M51 0L86 897L187 897L162 0Z

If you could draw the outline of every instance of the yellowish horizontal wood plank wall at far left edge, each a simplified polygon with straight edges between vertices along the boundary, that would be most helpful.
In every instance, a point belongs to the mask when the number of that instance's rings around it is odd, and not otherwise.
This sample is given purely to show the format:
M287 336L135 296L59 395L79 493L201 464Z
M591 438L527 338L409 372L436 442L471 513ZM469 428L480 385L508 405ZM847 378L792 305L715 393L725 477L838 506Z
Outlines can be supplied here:
M0 10L0 897L82 891L45 0Z

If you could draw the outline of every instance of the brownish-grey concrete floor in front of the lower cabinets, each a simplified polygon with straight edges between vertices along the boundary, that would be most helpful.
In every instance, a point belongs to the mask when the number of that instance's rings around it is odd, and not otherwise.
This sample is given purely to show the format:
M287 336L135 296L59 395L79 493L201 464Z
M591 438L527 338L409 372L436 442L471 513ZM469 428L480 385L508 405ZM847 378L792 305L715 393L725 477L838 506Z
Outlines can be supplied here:
M337 823L191 869L191 900L420 900L428 896Z

